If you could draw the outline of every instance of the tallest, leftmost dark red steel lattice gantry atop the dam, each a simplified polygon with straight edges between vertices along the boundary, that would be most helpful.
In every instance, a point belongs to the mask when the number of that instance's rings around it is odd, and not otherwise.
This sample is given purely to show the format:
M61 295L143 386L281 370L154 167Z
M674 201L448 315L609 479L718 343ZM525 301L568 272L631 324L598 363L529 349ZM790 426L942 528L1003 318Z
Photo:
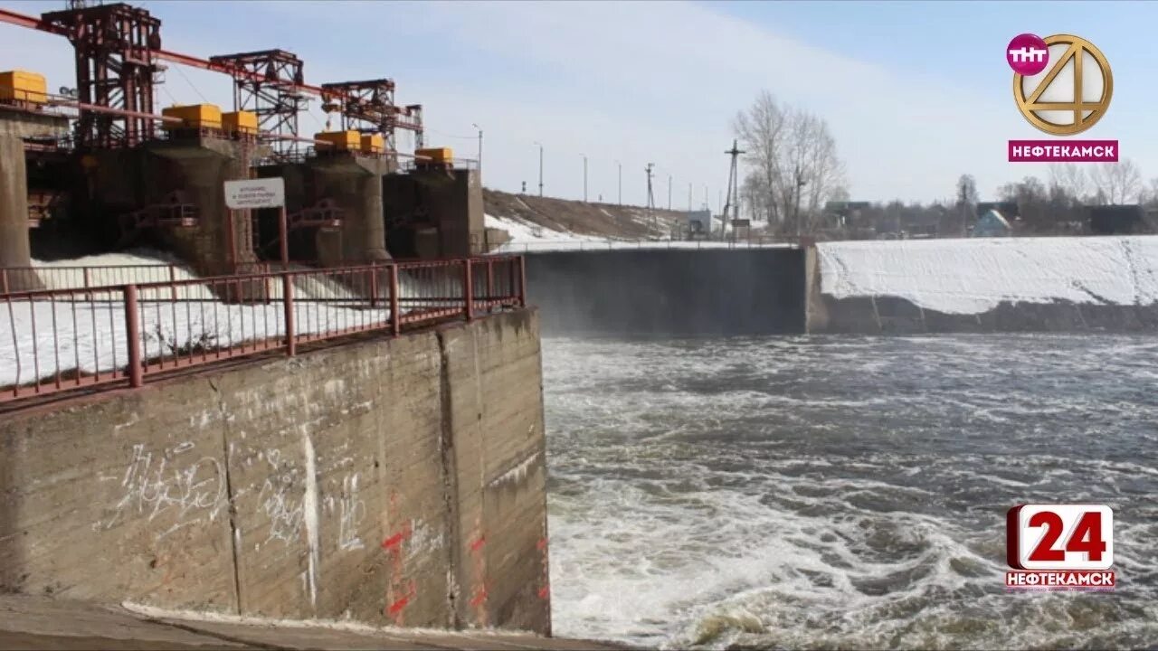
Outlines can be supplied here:
M125 3L80 7L43 14L41 20L63 32L76 54L76 100L137 114L153 112L153 86L160 70L161 21L148 10ZM81 111L76 146L133 146L154 136L154 122L144 116Z

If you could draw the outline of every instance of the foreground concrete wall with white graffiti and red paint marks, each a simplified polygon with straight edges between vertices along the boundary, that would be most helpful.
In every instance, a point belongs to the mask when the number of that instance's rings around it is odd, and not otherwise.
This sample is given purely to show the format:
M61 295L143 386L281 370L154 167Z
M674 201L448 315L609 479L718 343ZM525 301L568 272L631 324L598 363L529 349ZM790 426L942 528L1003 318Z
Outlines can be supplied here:
M8 414L0 592L550 632L534 310Z

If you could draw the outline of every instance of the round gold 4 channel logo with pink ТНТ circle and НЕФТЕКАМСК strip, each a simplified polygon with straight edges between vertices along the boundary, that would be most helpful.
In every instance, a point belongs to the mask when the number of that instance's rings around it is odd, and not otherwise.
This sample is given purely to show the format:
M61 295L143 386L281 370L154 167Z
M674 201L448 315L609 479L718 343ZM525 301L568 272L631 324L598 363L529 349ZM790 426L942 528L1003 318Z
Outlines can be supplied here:
M1013 101L1039 131L1070 137L1105 117L1114 75L1093 43L1069 34L1019 34L1005 47ZM1010 162L1117 162L1117 140L1010 140Z

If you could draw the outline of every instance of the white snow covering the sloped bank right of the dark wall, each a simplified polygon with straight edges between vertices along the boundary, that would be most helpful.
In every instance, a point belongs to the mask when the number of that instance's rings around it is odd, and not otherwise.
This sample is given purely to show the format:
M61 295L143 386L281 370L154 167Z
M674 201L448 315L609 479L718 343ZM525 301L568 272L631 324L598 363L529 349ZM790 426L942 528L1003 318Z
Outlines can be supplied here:
M1150 305L1158 236L824 242L821 292L979 314L1003 301Z

